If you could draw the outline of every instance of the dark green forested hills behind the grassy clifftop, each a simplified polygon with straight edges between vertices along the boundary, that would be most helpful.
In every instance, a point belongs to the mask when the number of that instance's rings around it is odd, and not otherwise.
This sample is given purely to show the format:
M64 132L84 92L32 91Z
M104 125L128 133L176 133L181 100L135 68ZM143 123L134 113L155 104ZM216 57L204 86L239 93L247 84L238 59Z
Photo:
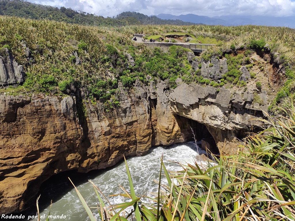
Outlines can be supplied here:
M33 4L24 0L1 0L0 15L18 16L30 19L49 19L59 22L68 22L82 25L94 26L122 26L133 24L175 24L190 25L191 22L181 20L163 20L156 16L148 17L138 12L122 12L117 17L97 16L84 11L75 11L71 8Z

